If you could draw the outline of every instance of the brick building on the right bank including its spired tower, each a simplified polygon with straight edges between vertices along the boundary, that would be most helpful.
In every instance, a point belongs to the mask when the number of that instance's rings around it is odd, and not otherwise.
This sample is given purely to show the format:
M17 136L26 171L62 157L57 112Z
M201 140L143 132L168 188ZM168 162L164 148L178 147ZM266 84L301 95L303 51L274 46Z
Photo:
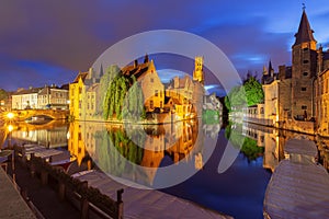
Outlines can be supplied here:
M329 135L329 126L326 124L329 104L329 50L324 51L321 45L317 47L313 34L303 9L292 46L292 66L280 66L276 73L271 62L269 69L264 68L264 116L272 119L275 127Z

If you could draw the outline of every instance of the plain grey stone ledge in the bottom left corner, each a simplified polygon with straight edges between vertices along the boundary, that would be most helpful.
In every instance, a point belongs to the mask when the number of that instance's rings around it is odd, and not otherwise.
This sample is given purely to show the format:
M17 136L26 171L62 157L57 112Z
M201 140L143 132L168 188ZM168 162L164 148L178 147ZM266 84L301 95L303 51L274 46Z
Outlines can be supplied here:
M2 168L0 168L0 218L35 218Z

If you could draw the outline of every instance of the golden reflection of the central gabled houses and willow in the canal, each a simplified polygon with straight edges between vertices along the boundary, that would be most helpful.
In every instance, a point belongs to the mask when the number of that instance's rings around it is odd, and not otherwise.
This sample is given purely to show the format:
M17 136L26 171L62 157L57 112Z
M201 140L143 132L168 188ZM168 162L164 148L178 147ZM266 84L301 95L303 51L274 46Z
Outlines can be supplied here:
M216 136L220 124L200 123L197 119L163 125L71 123L68 149L78 163L88 153L112 176L151 186L161 168L181 162L194 170L203 168L205 134Z

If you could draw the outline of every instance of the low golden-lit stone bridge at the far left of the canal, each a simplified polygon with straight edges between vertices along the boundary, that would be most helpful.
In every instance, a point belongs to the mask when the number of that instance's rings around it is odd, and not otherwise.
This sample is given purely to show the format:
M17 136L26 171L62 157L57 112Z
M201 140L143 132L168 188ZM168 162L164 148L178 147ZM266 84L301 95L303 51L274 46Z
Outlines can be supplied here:
M47 116L53 119L66 119L69 115L67 110L22 110L12 111L12 120L22 122L35 116Z

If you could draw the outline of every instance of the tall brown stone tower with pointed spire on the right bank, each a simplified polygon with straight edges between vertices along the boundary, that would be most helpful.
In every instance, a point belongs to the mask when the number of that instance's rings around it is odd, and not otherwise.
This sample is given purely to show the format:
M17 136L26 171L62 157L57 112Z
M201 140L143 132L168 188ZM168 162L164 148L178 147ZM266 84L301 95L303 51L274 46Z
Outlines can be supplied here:
M292 116L314 116L314 78L317 71L316 39L313 36L305 9L295 34L292 68Z

